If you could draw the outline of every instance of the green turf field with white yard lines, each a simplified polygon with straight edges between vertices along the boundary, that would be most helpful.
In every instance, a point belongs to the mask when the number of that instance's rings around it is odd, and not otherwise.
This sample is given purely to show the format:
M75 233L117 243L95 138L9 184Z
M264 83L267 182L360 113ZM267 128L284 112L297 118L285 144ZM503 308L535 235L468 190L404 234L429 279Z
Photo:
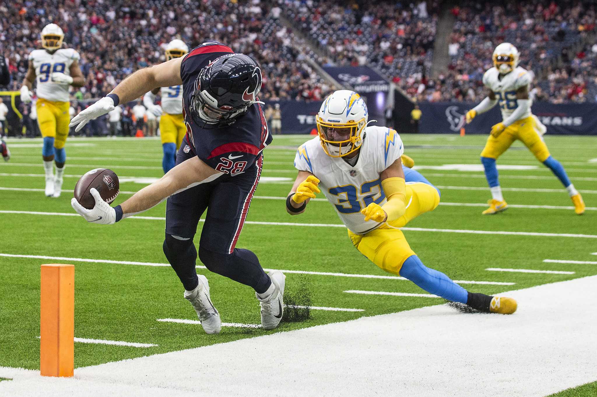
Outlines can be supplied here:
M237 247L256 252L263 267L269 269L389 275L353 248L346 229L337 227L340 220L330 204L312 201L306 213L299 216L290 216L285 211L284 198L296 176L294 153L297 145L309 138L275 137L272 146L266 149L262 174L266 178L257 188ZM518 166L500 170L504 197L511 207L495 216L482 216L484 203L490 198L479 163L484 136L404 135L402 139L405 153L413 157L420 172L442 191L438 208L408 224L409 228L423 230L405 231L411 247L427 266L445 272L454 280L510 283L461 283L470 291L487 294L597 274L595 264L544 262L546 259L597 261L597 256L591 255L597 252L597 137L546 137L552 155L562 162L576 188L583 193L587 204L583 216L574 214L570 198L559 181L520 144L515 144L498 161L498 165ZM130 218L111 226L87 224L79 216L64 214L74 214L70 207L72 189L78 177L90 169L110 168L121 178L122 193L116 204L149 182L143 178L159 178L162 175L159 141L70 139L66 146L65 191L57 199L46 198L42 191L41 139L11 139L8 145L13 158L0 164L3 230L0 254L91 261L0 256L0 296L3 297L0 366L39 368L42 263L75 265L75 337L158 345L138 348L75 343L76 367L443 303L441 299L428 297L344 292L424 292L399 279L287 273L287 294L297 303L310 300L312 306L362 311L312 309L308 320L283 322L276 331L223 327L221 334L210 336L200 325L156 321L196 320L170 267L93 260L167 263L162 253L165 204L143 213L158 219ZM324 198L323 194L318 197ZM14 213L17 211L23 213ZM276 225L276 222L318 226ZM211 297L222 321L259 324L259 305L249 287L205 269L199 268L198 272L210 280Z

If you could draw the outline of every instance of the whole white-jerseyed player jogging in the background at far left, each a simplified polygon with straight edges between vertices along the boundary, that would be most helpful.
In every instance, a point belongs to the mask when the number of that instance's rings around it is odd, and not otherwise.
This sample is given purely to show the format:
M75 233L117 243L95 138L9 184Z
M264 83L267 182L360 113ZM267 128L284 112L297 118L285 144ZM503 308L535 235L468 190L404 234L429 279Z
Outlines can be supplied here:
M29 69L21 87L21 101L31 101L33 82L37 83L36 110L39 131L44 137L42 158L45 170L45 195L60 197L66 162L64 143L69 135L69 86L82 87L85 77L79 68L81 56L75 49L61 48L64 32L51 23L41 31L41 45L29 54ZM54 176L53 162L56 163Z

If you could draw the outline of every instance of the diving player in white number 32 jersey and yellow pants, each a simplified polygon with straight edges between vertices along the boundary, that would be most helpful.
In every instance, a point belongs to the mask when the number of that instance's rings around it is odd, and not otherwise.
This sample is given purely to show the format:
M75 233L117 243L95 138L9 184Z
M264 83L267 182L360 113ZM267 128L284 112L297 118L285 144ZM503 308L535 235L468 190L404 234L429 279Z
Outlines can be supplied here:
M319 137L301 145L294 159L298 175L286 200L288 213L304 212L321 188L356 249L384 271L479 311L515 312L516 300L470 293L423 265L399 228L435 209L439 190L402 165L396 131L367 126L367 120L367 106L356 92L343 89L326 98L316 116Z

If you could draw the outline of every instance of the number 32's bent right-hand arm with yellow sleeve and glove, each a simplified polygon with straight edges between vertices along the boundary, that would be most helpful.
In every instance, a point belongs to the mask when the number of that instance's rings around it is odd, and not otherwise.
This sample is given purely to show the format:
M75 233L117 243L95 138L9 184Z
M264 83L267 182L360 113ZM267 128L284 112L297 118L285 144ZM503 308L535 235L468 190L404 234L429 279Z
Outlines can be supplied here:
M395 221L406 211L406 185L402 160L397 159L380 173L381 187L386 194L387 201L383 206L371 203L361 210L365 221L373 219L376 222Z

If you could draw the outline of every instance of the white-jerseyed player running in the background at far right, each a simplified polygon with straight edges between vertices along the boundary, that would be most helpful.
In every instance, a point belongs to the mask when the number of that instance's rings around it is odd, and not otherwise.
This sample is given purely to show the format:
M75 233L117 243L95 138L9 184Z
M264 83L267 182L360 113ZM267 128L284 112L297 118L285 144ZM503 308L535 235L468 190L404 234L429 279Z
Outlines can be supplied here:
M481 163L492 196L488 201L490 207L483 211L483 215L493 215L508 207L501 194L496 160L516 139L522 141L537 160L558 177L574 203L574 212L581 215L584 213L583 198L570 182L561 163L549 154L542 137L546 128L531 113L533 101L529 97L529 85L533 81L533 72L518 66L518 61L519 53L515 46L510 43L498 45L493 52L494 67L483 75L483 84L489 90L487 98L466 113L466 122L470 123L477 114L485 113L499 103L503 119L491 128L481 152Z

